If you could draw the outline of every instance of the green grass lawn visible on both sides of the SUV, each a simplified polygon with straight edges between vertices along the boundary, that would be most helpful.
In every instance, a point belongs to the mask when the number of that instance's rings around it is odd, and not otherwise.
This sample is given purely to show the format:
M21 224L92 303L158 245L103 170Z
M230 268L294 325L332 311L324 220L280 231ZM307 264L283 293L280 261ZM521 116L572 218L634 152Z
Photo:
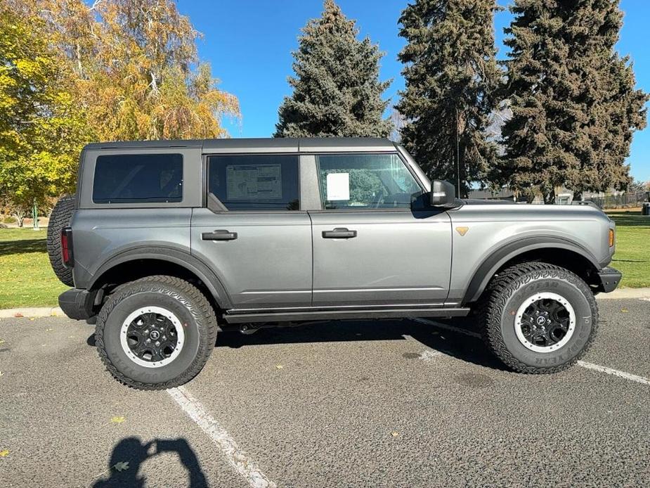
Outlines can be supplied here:
M650 218L612 214L616 255L611 266L623 272L622 286L650 286ZM46 231L0 229L0 309L53 307L67 287L54 275L45 248Z

